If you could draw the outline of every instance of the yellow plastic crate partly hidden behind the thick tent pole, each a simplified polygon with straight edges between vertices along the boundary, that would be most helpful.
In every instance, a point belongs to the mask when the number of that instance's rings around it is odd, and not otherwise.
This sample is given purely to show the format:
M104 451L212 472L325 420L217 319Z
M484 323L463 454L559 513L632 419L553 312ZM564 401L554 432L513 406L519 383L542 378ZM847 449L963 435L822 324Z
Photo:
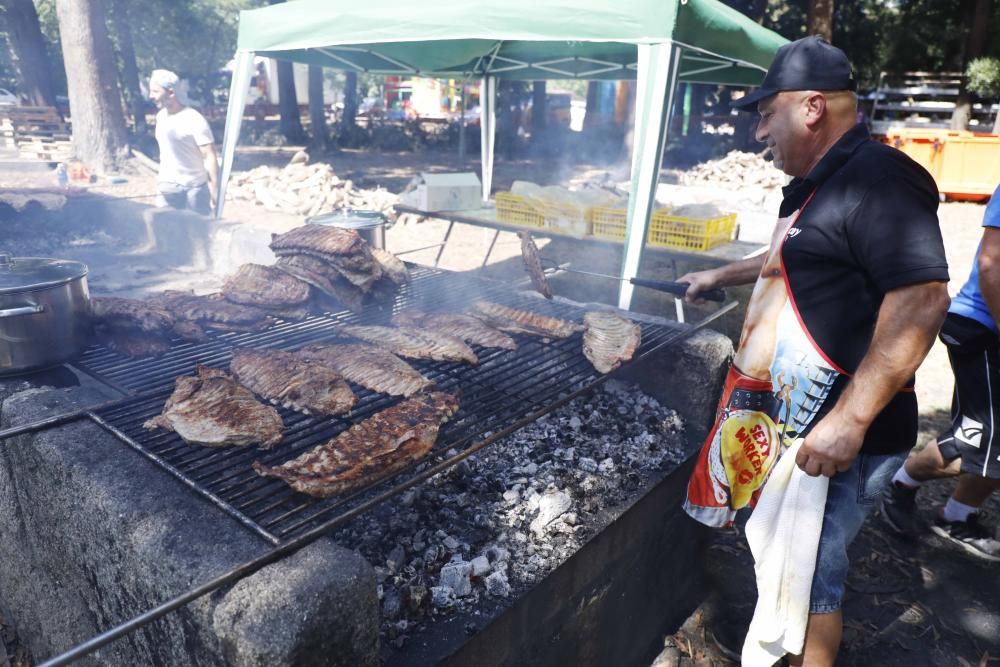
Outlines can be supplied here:
M589 217L594 236L624 241L627 215L628 210L624 208L591 208ZM714 218L686 218L671 215L669 209L663 208L653 212L646 242L661 248L703 252L728 243L735 227L735 213Z

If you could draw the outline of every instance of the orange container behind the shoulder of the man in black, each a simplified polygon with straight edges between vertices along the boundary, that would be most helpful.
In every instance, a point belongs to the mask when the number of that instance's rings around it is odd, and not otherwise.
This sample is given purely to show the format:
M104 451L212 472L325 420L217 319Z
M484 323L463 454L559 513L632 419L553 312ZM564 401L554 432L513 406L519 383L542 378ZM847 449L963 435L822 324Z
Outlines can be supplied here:
M1000 183L1000 136L954 130L900 128L886 143L903 151L952 199L987 199Z

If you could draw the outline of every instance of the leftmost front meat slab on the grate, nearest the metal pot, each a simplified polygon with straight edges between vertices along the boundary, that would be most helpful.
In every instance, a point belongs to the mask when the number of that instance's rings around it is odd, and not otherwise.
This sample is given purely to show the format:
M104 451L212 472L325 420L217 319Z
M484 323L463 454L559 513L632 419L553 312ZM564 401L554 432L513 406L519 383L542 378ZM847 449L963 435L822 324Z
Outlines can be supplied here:
M175 431L193 445L262 449L281 442L284 430L277 410L259 402L225 371L207 366L198 366L197 375L177 378L163 412L143 426Z

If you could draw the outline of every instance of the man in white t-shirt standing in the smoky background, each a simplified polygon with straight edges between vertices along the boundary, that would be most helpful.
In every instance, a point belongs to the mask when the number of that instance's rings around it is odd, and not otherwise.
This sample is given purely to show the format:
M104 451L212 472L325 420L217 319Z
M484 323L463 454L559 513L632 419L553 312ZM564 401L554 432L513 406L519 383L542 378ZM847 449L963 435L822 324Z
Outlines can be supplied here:
M149 77L149 97L159 108L160 205L208 215L215 205L219 163L212 129L205 117L177 99L178 77L165 69Z

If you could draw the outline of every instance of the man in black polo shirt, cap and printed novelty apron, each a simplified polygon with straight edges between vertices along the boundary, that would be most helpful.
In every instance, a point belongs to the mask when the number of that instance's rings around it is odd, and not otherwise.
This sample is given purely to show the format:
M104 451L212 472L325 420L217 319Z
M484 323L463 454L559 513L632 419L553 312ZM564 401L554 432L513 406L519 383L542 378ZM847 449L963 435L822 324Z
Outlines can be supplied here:
M687 512L731 523L786 449L806 474L829 478L792 664L836 658L847 547L915 443L913 376L949 302L934 181L856 124L854 88L847 57L821 38L779 49L760 89L737 103L759 113L758 141L794 177L769 252L680 278L688 301L756 282Z

